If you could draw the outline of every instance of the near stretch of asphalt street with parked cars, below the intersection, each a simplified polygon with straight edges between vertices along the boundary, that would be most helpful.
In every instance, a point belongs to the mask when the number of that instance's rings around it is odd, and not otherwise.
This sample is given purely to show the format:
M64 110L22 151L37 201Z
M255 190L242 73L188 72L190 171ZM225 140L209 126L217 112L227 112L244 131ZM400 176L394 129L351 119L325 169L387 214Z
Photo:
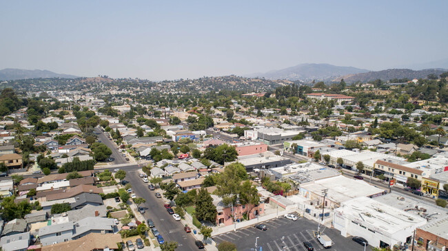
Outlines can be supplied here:
M197 250L198 248L194 244L195 239L191 233L186 233L183 230L183 224L181 221L176 221L170 215L163 204L164 199L158 199L154 193L162 193L160 189L151 191L147 188L148 183L144 183L142 178L139 177L139 173L136 169L127 171L125 180L132 184L132 190L137 197L146 199L145 204L141 204L145 208L145 220L152 219L156 225L157 230L161 233L165 241L176 241L179 243L177 250Z

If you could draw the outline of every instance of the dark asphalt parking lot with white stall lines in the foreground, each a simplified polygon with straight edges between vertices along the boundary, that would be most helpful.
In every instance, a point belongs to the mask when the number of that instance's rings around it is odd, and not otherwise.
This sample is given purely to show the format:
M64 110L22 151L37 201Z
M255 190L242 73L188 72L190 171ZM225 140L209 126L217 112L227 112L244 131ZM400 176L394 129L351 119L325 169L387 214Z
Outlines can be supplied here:
M309 219L298 219L291 221L284 217L278 217L263 222L267 230L258 230L254 226L241 228L236 232L227 232L213 237L216 243L230 241L236 244L237 250L305 250L304 241L308 241L314 247L314 250L324 250L322 245L314 237L314 231L317 230L317 223ZM320 228L320 231L327 234L333 241L332 248L328 250L364 250L363 245L352 241L352 237L345 238L340 235L338 230ZM258 238L257 238L258 237ZM256 248L256 249L255 249ZM370 250L369 247L366 250Z

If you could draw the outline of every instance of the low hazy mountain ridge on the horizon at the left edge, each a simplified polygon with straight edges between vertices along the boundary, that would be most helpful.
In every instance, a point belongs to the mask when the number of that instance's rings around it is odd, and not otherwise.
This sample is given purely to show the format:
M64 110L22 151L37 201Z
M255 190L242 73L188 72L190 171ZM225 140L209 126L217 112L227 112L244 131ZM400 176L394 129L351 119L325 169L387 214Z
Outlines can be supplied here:
M1 69L0 80L17 80L27 78L79 78L68 74L57 74L40 69Z

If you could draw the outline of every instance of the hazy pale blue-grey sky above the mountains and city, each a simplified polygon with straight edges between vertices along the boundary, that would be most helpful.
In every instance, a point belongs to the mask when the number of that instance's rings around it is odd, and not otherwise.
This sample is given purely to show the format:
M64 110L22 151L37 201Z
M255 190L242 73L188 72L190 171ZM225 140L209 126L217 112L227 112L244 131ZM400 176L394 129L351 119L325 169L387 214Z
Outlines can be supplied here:
M1 1L0 69L164 80L448 58L448 1Z

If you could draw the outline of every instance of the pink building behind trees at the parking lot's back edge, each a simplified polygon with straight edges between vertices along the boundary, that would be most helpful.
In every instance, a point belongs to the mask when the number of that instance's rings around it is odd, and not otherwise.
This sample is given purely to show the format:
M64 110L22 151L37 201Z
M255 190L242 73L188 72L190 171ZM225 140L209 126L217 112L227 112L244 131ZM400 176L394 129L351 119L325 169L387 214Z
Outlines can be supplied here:
M223 200L212 195L213 204L216 206L216 224L219 226L221 224L225 226L230 226L234 223L232 217L235 217L235 221L238 219L243 219L243 215L247 213L248 219L255 219L258 215L263 215L265 213L265 204L260 203L258 206L246 204L246 205L234 205L234 212L232 212L232 206L225 206Z

